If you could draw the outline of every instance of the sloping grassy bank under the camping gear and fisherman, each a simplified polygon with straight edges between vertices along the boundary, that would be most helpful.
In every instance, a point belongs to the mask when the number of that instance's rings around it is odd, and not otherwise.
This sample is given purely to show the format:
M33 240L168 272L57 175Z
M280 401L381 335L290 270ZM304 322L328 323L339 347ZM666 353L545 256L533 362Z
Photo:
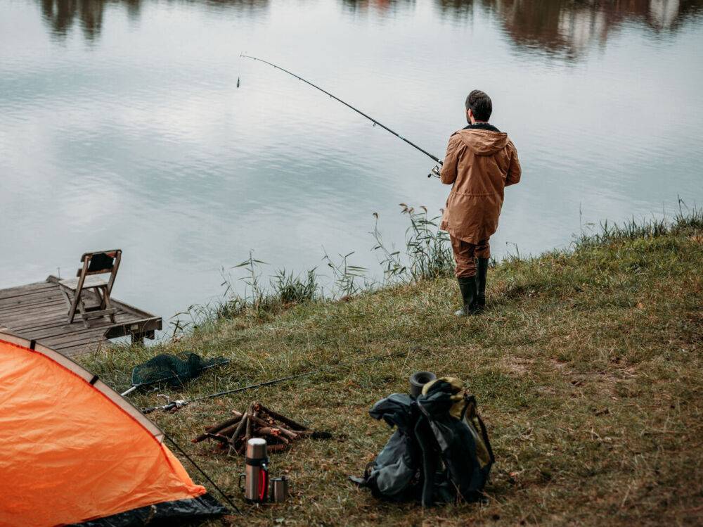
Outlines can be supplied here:
M164 388L172 398L336 365L150 414L236 497L243 459L190 443L206 424L260 400L335 433L272 455L273 473L292 479L292 497L243 505L249 525L703 523L702 272L703 217L693 213L669 227L607 229L569 251L501 262L478 317L452 315L456 282L439 274L342 301L241 310L174 343L83 362L122 390L136 362L162 351L231 358L182 390ZM384 358L361 362L368 357ZM497 459L484 504L423 512L347 482L389 437L368 408L425 369L464 379L477 396ZM130 397L138 406L165 402ZM230 521L241 523L221 523Z

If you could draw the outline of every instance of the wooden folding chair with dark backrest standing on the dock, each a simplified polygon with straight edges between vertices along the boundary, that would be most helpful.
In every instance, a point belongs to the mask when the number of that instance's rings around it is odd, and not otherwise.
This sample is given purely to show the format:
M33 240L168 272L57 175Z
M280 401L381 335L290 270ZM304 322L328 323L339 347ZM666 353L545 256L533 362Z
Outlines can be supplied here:
M110 293L112 284L115 283L117 269L120 268L122 250L100 250L95 253L85 253L81 256L83 267L78 269L77 278L60 280L58 285L66 298L68 305L68 323L72 324L79 310L79 316L83 319L86 328L90 327L89 319L100 317L110 317L110 322L115 322L115 308L110 305ZM108 281L98 274L110 274ZM86 290L95 293L97 303L86 305Z

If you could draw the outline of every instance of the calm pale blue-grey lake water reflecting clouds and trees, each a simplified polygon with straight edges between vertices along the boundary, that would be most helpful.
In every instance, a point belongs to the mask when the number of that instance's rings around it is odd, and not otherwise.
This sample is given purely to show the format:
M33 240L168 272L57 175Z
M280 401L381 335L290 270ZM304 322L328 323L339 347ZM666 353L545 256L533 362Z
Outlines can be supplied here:
M0 0L0 287L124 251L115 297L167 318L254 257L380 274L373 212L439 212L468 91L523 180L494 255L703 200L703 0ZM237 81L240 79L240 87Z

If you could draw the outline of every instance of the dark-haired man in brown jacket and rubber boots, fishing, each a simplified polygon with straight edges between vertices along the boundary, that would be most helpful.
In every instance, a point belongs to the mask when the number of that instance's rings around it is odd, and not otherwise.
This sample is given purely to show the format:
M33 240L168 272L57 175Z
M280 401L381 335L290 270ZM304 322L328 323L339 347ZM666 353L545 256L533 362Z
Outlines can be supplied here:
M491 98L475 89L466 98L469 125L449 137L440 171L452 185L441 220L449 232L463 307L455 315L473 315L486 305L489 239L498 229L504 189L520 182L520 160L508 134L489 119Z

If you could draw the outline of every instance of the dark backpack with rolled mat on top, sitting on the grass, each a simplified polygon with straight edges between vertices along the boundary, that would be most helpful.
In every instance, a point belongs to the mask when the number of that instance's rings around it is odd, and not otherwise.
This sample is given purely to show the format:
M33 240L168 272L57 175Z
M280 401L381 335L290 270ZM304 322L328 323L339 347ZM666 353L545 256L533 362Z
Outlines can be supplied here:
M363 478L351 478L384 500L472 502L482 497L495 458L476 399L457 379L437 379L412 398L394 393L370 409L396 427Z

